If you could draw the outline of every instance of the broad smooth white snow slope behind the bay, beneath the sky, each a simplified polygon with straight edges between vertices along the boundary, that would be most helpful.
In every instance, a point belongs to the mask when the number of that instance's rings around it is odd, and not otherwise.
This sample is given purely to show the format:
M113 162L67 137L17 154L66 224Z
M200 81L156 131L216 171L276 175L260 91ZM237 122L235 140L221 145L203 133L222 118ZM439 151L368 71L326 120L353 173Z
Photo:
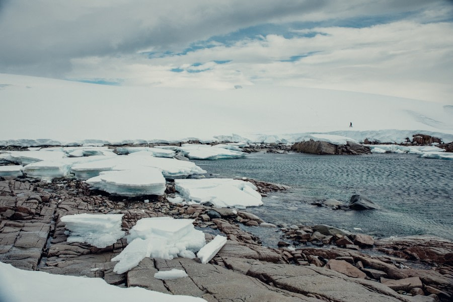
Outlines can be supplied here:
M12 74L0 74L0 87L0 145L209 141L232 133L242 136L235 141L272 142L314 132L358 141L437 132L453 140L451 104L355 92L114 87Z

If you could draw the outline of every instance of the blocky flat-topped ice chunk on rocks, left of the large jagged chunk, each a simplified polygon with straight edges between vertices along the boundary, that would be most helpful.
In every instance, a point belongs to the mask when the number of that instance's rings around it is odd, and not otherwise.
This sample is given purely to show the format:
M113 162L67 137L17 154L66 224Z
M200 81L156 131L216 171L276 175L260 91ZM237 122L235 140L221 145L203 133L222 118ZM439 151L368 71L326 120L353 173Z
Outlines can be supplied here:
M75 214L60 218L70 231L67 242L86 242L98 248L110 246L124 236L123 214Z

